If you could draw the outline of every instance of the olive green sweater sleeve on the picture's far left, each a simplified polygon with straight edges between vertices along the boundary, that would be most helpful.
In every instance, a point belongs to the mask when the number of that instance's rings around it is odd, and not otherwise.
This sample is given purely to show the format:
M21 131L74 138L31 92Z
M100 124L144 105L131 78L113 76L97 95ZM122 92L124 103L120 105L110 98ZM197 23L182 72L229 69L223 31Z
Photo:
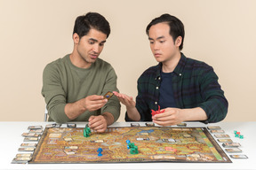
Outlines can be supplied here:
M64 112L66 94L61 86L60 73L51 64L44 68L42 95L47 105L49 120L57 123L68 122L68 116Z

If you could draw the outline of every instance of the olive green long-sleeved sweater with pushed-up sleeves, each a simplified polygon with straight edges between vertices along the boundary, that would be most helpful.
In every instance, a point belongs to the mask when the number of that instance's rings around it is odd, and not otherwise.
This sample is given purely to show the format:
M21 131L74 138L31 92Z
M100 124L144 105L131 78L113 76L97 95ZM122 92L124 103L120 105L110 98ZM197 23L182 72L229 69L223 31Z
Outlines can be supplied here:
M86 111L75 120L69 120L64 112L68 103L91 95L103 96L108 91L118 91L116 79L114 68L100 58L87 69L74 66L69 54L48 64L43 73L42 95L47 104L49 121L88 121L91 115L100 115L103 112L112 113L116 121L120 115L120 103L115 96L100 110Z

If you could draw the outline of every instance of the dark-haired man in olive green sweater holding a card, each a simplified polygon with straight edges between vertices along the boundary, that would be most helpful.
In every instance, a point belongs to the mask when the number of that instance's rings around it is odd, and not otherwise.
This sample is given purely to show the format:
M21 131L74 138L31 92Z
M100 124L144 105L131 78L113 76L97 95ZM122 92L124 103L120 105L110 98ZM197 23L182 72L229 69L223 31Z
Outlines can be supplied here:
M99 58L110 34L107 19L88 12L76 18L74 49L44 68L42 95L49 121L89 121L89 127L104 132L120 115L116 97L105 99L116 88L114 68Z

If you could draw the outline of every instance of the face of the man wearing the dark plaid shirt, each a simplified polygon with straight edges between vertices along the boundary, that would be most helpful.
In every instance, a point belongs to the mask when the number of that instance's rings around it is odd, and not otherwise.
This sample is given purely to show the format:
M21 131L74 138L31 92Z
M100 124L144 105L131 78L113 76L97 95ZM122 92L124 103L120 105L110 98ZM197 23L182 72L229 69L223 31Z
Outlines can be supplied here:
M177 54L180 54L180 45L173 42L169 32L170 27L166 23L153 25L148 31L150 48L157 62L171 61Z

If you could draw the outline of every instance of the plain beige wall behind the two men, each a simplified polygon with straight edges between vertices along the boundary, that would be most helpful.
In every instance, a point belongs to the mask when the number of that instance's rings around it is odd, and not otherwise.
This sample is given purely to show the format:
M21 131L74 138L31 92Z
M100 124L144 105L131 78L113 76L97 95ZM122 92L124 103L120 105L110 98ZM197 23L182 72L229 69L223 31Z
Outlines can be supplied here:
M136 97L138 77L156 65L145 28L168 12L185 25L184 54L219 75L225 121L255 121L255 7L254 0L0 0L0 120L44 120L44 66L72 51L75 19L86 12L108 19L112 33L100 58L116 69L120 91Z

